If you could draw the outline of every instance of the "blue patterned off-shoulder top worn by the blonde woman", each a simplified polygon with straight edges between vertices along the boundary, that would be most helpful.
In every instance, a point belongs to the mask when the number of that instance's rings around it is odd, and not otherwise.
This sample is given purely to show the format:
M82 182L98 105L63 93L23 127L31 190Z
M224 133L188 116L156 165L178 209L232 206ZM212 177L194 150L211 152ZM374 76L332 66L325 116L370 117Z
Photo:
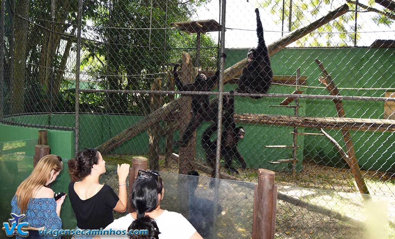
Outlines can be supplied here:
M20 215L21 209L18 208L16 195L11 200L11 206L11 212ZM62 220L60 220L60 217L56 214L55 198L30 198L24 214L26 217L23 218L21 222L28 222L30 227L44 227L45 230L62 229ZM16 238L26 239L26 237L21 237L19 235L17 235ZM60 236L53 237L52 235L47 235L42 238L55 239L60 238Z

